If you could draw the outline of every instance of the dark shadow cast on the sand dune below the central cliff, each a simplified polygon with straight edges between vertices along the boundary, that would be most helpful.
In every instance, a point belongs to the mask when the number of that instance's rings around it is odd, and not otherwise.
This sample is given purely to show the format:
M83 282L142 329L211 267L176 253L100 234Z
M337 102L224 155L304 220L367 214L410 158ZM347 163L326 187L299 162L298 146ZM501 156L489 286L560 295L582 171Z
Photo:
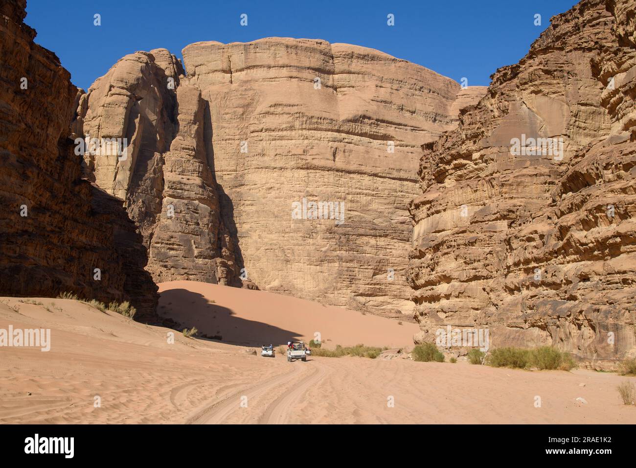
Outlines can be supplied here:
M258 307L258 304L254 304ZM169 289L160 294L159 315L172 318L183 328L198 329L197 337L209 337L222 343L240 346L280 346L300 339L298 332L283 330L273 325L237 317L226 307L208 302L197 292L187 289Z

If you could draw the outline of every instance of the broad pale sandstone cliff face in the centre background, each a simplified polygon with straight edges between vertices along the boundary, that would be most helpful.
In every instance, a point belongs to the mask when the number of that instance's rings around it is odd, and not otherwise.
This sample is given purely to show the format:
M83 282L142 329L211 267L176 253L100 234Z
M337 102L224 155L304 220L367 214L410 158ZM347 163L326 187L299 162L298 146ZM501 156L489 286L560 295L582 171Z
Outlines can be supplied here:
M455 127L459 85L321 40L202 42L183 58L209 103L222 211L236 225L247 278L263 290L412 315L404 269L419 145ZM312 219L319 202L329 213Z

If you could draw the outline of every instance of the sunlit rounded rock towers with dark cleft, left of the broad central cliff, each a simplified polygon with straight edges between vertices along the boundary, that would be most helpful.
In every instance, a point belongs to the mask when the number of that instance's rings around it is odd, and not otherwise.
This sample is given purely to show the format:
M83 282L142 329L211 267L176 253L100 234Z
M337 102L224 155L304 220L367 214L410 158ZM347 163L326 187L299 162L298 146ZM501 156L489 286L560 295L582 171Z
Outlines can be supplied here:
M86 171L125 201L155 281L238 282L209 164L212 147L204 139L206 112L200 91L165 49L123 57L79 100L74 131L120 139L126 148L86 152Z

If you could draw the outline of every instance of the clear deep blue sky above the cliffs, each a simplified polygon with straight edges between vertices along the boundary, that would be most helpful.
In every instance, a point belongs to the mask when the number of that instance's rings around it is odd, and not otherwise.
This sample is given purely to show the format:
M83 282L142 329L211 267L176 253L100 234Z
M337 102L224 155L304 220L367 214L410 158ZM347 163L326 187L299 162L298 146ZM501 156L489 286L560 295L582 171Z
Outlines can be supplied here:
M469 85L488 85L518 62L550 17L574 0L27 0L36 42L57 53L87 89L123 55L164 47L181 58L197 41L270 36L325 39L375 48ZM101 25L93 25L93 15ZM247 26L240 15L247 14ZM395 25L387 25L387 15ZM541 25L534 25L534 15Z

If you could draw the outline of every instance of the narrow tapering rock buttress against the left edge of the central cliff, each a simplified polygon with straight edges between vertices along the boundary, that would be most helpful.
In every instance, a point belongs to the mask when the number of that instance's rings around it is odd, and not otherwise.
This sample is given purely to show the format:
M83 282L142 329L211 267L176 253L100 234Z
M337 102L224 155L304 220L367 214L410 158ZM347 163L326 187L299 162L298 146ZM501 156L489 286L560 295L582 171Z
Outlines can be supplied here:
M179 86L177 102L177 133L164 155L162 215L150 243L149 268L158 282L183 278L232 284L233 243L219 216L204 141L207 105L187 84Z

